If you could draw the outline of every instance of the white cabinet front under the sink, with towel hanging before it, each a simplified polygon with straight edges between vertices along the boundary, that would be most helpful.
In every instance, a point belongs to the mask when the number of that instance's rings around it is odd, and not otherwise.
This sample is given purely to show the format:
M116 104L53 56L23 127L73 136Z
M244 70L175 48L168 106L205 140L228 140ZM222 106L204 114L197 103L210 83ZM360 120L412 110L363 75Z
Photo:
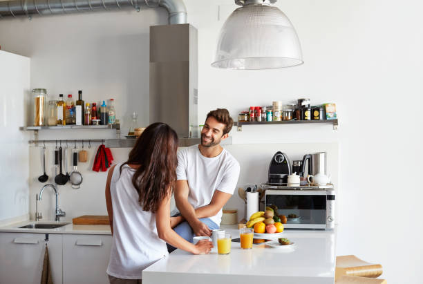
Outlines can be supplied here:
M0 233L0 283L41 281L46 234ZM53 282L62 283L62 235L48 234L48 256Z

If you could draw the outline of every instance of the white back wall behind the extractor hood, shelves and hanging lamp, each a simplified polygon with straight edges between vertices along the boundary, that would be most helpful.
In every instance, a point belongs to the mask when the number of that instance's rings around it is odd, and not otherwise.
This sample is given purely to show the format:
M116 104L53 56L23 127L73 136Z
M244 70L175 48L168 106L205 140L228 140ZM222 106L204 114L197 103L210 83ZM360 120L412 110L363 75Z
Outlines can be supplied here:
M248 143L339 143L337 254L382 263L389 283L420 283L423 4L278 1L297 29L305 64L236 71L210 67L223 25L219 12L225 17L234 3L185 3L189 21L198 28L200 122L217 106L235 116L273 100L306 96L316 104L336 102L338 131L328 125L245 126L241 133L232 131L231 149ZM163 10L7 19L0 22L0 44L31 57L31 87L48 88L54 95L82 89L92 100L116 94L118 113L129 120L133 105L148 111L147 25L166 22ZM148 114L140 111L140 116L147 123ZM59 135L66 139L69 134ZM78 136L91 135L100 134ZM92 196L89 190L84 188L82 199L104 202L100 189L90 191Z

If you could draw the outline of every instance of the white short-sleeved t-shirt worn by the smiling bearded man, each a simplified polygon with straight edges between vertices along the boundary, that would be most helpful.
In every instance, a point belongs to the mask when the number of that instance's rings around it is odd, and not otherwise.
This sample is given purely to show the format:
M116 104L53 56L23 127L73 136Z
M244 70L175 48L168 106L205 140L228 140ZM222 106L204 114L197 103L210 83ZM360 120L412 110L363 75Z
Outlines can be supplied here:
M188 181L188 202L194 209L209 205L215 190L234 194L239 170L238 161L225 149L213 158L202 155L198 145L178 151L176 176ZM222 210L210 219L220 225Z

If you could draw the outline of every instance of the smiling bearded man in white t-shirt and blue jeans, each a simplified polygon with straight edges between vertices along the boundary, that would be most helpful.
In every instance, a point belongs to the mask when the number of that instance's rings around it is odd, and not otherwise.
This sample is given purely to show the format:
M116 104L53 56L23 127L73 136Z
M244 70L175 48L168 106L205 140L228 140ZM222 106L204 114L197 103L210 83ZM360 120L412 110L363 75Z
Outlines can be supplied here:
M239 163L220 146L233 124L226 108L210 111L201 144L178 151L175 201L180 215L171 218L171 226L191 243L194 236L211 236L219 228L222 208L236 188Z

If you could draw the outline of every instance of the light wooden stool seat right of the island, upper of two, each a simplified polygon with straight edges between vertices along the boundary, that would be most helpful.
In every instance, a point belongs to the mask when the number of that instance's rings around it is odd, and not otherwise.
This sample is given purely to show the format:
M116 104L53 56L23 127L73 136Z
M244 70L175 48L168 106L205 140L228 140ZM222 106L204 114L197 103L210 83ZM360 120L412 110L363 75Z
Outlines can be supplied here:
M335 281L343 275L377 278L382 275L382 265L366 263L356 256L337 256Z

